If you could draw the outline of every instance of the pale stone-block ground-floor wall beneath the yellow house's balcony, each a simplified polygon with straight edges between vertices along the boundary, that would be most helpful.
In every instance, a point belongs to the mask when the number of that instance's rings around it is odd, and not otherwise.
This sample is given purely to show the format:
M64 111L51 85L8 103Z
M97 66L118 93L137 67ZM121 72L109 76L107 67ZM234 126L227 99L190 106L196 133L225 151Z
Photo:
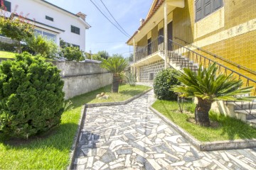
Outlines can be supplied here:
M139 81L151 82L156 77L156 74L164 69L164 60L158 60L151 64L146 64L139 67ZM149 79L152 78L152 79Z

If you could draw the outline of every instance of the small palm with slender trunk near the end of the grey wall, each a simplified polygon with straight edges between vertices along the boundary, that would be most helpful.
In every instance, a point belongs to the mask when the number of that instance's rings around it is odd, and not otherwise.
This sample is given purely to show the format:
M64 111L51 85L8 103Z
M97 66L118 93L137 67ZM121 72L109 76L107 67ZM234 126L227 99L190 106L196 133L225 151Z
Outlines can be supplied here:
M128 60L119 56L109 57L107 60L102 61L100 67L107 69L107 71L112 72L113 74L113 79L112 79L113 93L118 93L120 74L124 72L124 69L126 69L128 65L129 65Z

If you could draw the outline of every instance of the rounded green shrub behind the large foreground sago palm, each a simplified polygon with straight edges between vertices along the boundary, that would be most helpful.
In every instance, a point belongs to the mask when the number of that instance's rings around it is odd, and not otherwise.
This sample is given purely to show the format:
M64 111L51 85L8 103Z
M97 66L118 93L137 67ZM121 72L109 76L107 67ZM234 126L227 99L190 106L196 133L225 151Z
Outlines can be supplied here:
M159 72L154 79L154 94L160 100L173 101L178 95L174 91L170 91L171 86L180 85L180 81L176 79L178 71L175 69L164 69Z

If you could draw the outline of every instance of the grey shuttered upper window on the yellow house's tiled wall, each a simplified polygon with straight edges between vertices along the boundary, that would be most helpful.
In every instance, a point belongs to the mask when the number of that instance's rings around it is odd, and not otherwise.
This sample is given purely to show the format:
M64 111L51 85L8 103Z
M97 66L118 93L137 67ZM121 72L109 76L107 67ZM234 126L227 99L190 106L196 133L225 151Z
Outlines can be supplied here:
M222 6L223 6L223 0L196 0L195 1L196 22L210 15L210 13L217 11Z

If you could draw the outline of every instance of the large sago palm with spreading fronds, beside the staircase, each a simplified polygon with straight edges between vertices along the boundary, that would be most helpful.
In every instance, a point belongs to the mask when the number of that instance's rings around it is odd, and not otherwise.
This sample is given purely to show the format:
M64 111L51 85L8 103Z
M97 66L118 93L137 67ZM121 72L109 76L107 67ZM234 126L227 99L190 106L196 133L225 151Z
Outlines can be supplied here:
M200 66L198 72L191 69L183 69L177 77L183 85L173 86L171 90L178 92L184 97L197 97L195 118L196 123L203 126L210 126L208 112L213 101L248 101L253 97L242 97L243 94L250 94L253 87L241 87L242 80L233 78L233 74L225 76L217 74L216 64L208 68Z

